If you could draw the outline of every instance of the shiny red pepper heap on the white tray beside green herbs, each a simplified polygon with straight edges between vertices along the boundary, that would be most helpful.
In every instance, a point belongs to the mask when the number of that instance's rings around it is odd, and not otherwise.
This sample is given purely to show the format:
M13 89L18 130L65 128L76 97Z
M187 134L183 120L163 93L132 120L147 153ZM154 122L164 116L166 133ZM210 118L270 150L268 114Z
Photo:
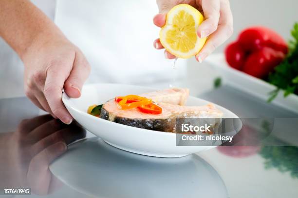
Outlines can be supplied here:
M231 67L262 79L281 63L287 52L288 46L278 33L251 27L226 47L225 59Z

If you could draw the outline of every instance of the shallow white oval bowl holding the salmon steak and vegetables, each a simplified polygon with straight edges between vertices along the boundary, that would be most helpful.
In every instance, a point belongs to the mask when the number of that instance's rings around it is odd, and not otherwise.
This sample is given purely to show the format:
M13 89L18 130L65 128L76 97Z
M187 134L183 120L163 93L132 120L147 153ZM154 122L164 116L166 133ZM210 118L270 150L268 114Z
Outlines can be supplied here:
M90 105L103 104L116 96L137 95L151 91L155 89L124 84L88 84L83 86L80 98L72 99L63 93L62 101L79 124L116 148L155 157L182 157L214 148L213 146L176 146L175 133L130 127L87 114ZM210 102L203 99L189 97L186 105L202 106L208 103ZM238 118L229 110L219 105L215 106L223 112L223 117Z

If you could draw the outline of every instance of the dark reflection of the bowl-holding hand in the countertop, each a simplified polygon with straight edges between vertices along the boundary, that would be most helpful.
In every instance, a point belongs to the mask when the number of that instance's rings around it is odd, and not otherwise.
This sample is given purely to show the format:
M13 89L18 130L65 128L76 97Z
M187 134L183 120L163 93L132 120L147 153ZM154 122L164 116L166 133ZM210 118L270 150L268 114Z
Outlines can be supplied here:
M61 182L50 163L85 135L76 123L65 125L51 115L24 119L15 132L0 133L0 189L30 187L33 194L51 194Z

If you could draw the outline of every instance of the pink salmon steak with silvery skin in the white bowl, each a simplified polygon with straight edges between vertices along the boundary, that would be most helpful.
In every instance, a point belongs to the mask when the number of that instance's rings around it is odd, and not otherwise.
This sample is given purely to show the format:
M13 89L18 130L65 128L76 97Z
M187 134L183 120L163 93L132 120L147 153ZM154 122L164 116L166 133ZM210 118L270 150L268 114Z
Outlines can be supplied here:
M189 95L188 89L166 89L140 96L152 99L162 108L161 114L146 114L137 108L122 110L114 99L109 100L102 107L100 117L112 122L161 132L175 132L176 118L186 117L215 117L223 113L213 104L205 106L182 106Z

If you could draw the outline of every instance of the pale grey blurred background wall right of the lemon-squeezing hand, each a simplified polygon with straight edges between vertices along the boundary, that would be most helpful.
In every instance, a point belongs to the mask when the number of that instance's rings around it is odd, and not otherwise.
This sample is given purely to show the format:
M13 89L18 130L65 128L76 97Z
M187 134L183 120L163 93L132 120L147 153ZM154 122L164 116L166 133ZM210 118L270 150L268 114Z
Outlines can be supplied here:
M290 30L295 21L298 22L298 0L230 0L234 17L234 34L220 46L215 53L223 52L224 47L237 38L242 29L262 25L271 28L286 40L290 38ZM191 78L213 77L219 75L209 68L206 63L198 64L189 60L188 75ZM205 80L206 84L208 79Z

